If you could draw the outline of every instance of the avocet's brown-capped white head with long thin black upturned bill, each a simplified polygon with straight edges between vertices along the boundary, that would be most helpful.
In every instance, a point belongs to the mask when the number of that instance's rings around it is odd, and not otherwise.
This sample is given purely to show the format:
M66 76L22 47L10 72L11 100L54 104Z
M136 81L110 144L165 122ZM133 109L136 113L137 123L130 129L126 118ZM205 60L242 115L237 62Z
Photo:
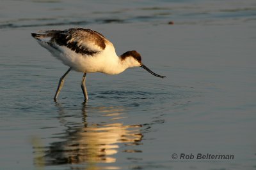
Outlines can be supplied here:
M135 50L128 51L123 53L121 56L122 62L127 65L127 67L143 67L143 69L147 70L149 73L153 74L154 76L164 78L165 76L161 76L159 74L154 73L148 67L146 67L141 62L141 55L140 53L136 52Z

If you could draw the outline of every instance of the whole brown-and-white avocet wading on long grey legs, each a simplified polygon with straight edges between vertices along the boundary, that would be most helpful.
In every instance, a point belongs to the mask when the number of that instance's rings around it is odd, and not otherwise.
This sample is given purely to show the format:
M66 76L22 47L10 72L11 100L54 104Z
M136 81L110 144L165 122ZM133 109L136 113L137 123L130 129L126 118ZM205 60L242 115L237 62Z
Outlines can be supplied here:
M102 34L91 29L49 30L42 31L39 34L32 33L31 35L41 46L49 50L54 57L70 67L61 77L54 97L55 100L58 97L65 76L71 69L84 73L81 87L85 99L88 99L85 87L86 73L119 74L129 67L140 66L155 76L164 78L164 76L153 73L143 65L140 53L136 51L128 51L118 57L113 44Z

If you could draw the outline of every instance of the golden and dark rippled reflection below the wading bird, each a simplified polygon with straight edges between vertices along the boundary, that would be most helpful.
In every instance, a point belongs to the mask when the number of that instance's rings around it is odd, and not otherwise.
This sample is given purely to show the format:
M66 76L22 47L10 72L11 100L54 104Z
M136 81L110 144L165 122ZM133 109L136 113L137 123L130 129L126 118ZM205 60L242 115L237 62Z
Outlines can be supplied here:
M87 108L83 103L81 107L82 121L79 123L68 122L68 111L56 103L60 115L60 123L67 127L61 134L61 139L45 147L45 165L79 164L79 163L113 163L116 162L115 154L118 152L141 152L132 150L132 145L141 145L141 125L124 125L120 123L124 109L120 107ZM88 111L89 110L89 111ZM87 122L87 112L97 113L104 122L90 124ZM93 115L94 116L94 115ZM71 116L72 117L72 116ZM108 121L106 121L108 118ZM74 120L73 120L74 121ZM121 143L123 150L120 150ZM40 147L34 147L35 153ZM38 159L37 159L38 160Z

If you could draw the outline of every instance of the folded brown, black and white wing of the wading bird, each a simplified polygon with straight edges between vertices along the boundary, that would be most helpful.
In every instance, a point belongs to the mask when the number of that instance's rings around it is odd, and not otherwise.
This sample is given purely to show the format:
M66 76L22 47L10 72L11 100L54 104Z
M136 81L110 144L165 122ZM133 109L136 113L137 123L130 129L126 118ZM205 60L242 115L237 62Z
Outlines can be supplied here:
M49 30L43 33L37 34L39 39L51 38L48 43L52 46L66 46L70 50L83 55L93 55L104 50L108 41L99 32L83 28L73 28L64 31Z

